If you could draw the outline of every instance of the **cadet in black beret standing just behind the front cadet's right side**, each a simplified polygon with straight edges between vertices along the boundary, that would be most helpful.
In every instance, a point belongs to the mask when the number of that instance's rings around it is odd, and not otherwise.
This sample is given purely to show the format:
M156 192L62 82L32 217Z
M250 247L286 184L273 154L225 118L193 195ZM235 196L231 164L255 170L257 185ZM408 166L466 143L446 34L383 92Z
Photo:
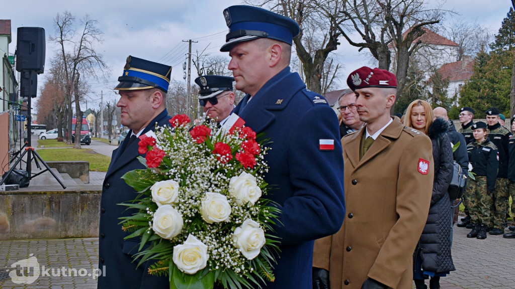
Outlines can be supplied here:
M499 160L499 171L495 181L495 190L492 192L493 204L491 208L491 221L488 226L493 227L489 232L491 235L500 235L504 234L509 204L508 142L511 133L499 123L500 112L497 107L492 107L485 113L488 129L490 130L490 141L494 143L499 152L499 157L497 158Z

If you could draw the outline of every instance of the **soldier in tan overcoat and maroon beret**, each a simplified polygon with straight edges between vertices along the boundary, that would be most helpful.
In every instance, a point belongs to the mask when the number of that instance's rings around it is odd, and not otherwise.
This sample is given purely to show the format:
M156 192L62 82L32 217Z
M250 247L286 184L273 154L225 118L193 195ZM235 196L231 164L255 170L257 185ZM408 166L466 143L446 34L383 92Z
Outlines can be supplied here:
M347 84L366 125L341 140L347 218L336 234L315 242L314 286L323 287L328 270L331 289L410 289L433 190L432 143L390 117L395 75L362 67Z

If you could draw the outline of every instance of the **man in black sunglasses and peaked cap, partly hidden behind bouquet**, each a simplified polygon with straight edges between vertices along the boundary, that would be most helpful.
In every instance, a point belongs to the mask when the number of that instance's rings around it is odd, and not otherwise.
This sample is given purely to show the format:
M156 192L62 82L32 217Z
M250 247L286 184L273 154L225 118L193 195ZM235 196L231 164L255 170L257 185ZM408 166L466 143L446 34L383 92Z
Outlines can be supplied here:
M220 125L229 118L234 109L233 77L205 75L195 79L200 86L198 101L207 113L207 119L214 119Z

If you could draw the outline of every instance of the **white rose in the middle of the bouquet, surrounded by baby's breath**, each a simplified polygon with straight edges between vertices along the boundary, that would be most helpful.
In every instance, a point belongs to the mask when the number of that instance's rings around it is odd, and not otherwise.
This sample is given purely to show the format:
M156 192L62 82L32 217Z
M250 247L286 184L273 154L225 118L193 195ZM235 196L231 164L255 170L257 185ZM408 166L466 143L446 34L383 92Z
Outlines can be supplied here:
M200 202L200 214L209 224L229 221L231 205L225 195L207 192Z

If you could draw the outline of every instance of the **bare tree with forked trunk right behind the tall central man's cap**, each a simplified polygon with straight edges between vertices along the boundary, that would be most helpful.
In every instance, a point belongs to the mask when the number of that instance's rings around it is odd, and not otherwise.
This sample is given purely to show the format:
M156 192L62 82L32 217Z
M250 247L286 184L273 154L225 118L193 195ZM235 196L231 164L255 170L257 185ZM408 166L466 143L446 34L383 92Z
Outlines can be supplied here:
M297 56L302 62L302 71L307 88L322 93L324 63L330 53L337 49L337 29L341 20L336 15L347 0L245 0L246 3L263 7L295 20L300 34L294 38ZM334 71L328 71L328 75ZM327 77L326 77L327 78Z

